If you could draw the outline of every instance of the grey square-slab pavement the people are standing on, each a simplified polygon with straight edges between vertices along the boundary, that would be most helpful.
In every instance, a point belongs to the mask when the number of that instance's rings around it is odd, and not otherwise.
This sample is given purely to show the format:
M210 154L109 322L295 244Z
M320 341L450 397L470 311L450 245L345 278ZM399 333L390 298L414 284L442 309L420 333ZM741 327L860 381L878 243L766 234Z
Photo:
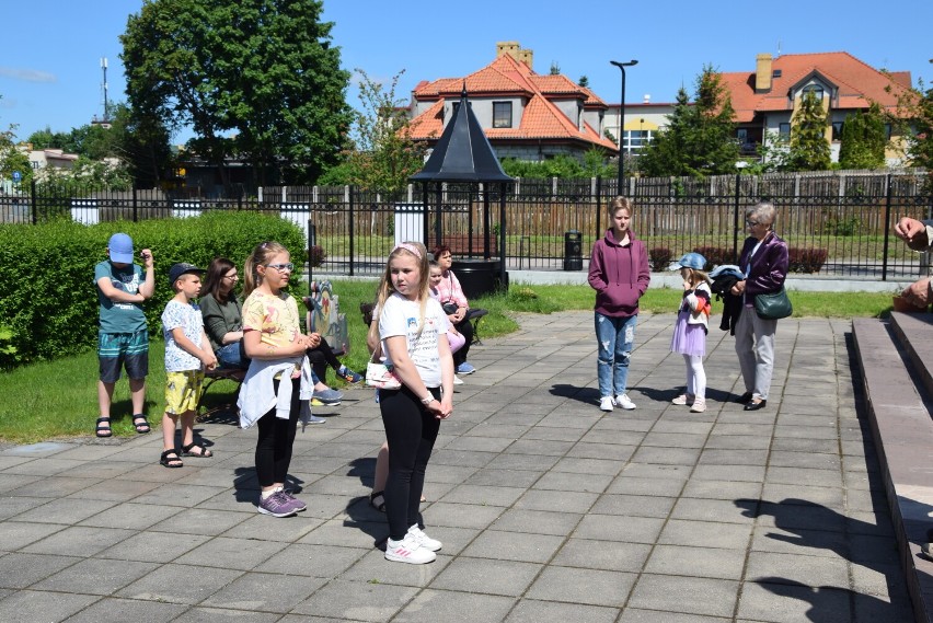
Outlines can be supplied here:
M384 437L372 392L350 389L298 434L309 508L288 519L256 512L255 431L229 414L198 425L216 457L181 470L158 464L158 432L0 452L0 621L912 621L850 322L781 321L753 413L712 328L709 409L691 414L670 403L673 315L643 314L637 408L602 414L591 313L519 320L471 350L441 425L435 563L376 546Z

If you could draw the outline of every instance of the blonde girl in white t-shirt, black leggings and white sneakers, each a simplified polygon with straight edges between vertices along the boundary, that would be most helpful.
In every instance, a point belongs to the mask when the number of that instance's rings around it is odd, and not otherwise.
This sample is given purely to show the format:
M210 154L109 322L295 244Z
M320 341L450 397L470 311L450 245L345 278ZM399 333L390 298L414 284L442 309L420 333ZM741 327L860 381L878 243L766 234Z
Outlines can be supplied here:
M418 505L440 420L453 411L453 359L445 337L448 320L428 293L428 276L424 245L403 242L389 254L377 298L385 364L402 381L399 390L379 390L392 449L384 492L385 558L416 565L433 562L441 547L418 528Z

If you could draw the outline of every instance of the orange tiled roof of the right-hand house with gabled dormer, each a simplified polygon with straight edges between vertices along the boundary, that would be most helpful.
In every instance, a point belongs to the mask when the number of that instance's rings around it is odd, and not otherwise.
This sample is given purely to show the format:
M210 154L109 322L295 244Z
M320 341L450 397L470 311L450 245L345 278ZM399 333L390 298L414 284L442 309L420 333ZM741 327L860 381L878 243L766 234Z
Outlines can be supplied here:
M894 108L898 95L910 84L909 71L886 74L844 51L780 56L771 61L771 70L781 70L781 76L771 79L768 93L755 92L753 71L722 73L739 123L749 123L761 112L793 109L788 96L791 90L799 88L800 82L813 73L838 88L836 109L866 108L871 102L877 102L883 108Z

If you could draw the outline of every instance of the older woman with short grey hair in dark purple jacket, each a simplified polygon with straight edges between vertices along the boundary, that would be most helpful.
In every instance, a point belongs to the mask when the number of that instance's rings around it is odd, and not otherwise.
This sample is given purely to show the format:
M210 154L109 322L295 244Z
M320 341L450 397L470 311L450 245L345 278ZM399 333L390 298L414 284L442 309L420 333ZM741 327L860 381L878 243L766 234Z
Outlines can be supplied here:
M755 313L755 297L776 292L787 278L787 243L774 233L774 206L762 201L745 211L749 235L739 255L745 279L732 288L741 295L741 315L736 322L736 355L739 358L745 393L737 402L745 411L758 411L768 404L768 390L774 371L776 320Z

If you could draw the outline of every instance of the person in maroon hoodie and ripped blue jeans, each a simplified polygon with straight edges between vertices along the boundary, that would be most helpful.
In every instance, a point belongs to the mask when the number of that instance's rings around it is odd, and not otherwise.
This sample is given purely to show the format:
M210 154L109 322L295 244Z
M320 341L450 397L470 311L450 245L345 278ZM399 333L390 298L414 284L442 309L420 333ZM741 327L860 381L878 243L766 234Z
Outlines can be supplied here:
M625 394L629 359L635 342L638 299L648 289L652 273L645 243L631 229L632 203L615 197L609 204L612 227L592 245L589 285L596 290L596 371L599 408L635 408Z

